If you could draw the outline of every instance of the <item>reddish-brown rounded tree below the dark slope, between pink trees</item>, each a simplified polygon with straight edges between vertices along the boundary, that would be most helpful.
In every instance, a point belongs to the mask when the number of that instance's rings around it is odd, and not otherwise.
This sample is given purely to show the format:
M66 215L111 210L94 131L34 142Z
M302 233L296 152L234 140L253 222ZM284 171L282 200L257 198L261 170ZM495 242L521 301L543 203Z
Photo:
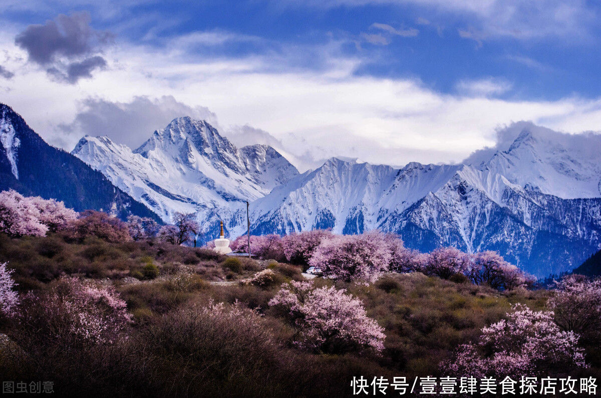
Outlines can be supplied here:
M132 240L125 222L117 217L95 210L85 210L78 219L70 222L66 227L66 236L79 241L88 236L96 236L112 243Z

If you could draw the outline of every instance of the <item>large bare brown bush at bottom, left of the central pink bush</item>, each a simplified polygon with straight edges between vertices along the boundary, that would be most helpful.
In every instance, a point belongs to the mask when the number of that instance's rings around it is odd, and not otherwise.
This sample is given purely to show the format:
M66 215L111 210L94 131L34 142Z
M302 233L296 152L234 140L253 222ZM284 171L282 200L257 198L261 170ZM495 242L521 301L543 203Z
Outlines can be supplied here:
M145 332L144 340L169 366L182 366L176 380L194 372L194 383L180 384L185 390L171 391L173 396L204 396L207 388L224 383L268 388L264 369L278 362L269 327L257 313L236 305L193 304L166 314Z

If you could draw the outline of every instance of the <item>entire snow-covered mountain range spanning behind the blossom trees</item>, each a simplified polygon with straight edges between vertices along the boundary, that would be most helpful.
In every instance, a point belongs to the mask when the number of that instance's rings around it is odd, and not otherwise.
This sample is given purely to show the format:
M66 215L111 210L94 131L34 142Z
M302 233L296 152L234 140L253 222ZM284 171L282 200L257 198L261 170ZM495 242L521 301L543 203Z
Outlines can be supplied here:
M133 198L130 206L142 203L165 222L175 211L196 212L204 240L216 236L220 219L230 237L244 233L248 200L254 234L379 228L421 251L496 250L538 277L572 271L601 248L601 135L563 135L531 123L513 128L505 147L458 165L394 168L332 158L300 174L272 147L236 148L206 121L188 117L135 150L85 136L72 155ZM12 139L3 133L2 181L7 173L16 180L15 162L26 173L25 155L11 158L20 148ZM52 150L50 164L68 156Z

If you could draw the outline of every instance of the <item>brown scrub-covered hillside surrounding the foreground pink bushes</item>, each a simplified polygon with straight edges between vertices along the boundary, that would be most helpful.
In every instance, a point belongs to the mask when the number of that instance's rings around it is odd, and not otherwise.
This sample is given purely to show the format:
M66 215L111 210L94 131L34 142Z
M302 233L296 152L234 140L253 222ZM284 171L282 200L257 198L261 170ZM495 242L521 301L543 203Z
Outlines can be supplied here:
M133 315L127 338L97 346L23 340L18 325L0 326L21 339L19 346L2 345L0 374L52 380L65 395L346 396L353 376L440 375L439 363L502 319L511 304L540 310L549 296L547 290L501 293L419 272L386 274L373 284L316 278L317 286L335 284L361 299L386 334L380 355L326 355L297 349L293 329L267 304L282 283L302 280L300 266L168 243L69 243L60 234L0 236L0 262L15 270L21 293L44 292L61 275L102 280ZM263 269L273 277L251 283ZM195 308L210 302L238 302L260 316L248 325L227 317L207 323ZM594 355L587 359L598 366ZM598 372L594 366L587 374Z

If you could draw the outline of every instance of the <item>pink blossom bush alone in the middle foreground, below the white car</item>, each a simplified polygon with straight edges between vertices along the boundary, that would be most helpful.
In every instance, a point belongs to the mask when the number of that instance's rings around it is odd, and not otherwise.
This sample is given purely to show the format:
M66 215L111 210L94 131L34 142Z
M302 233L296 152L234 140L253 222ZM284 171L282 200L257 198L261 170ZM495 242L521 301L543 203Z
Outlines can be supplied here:
M301 347L330 354L384 349L382 326L365 313L361 300L335 287L292 281L269 301L287 312Z

